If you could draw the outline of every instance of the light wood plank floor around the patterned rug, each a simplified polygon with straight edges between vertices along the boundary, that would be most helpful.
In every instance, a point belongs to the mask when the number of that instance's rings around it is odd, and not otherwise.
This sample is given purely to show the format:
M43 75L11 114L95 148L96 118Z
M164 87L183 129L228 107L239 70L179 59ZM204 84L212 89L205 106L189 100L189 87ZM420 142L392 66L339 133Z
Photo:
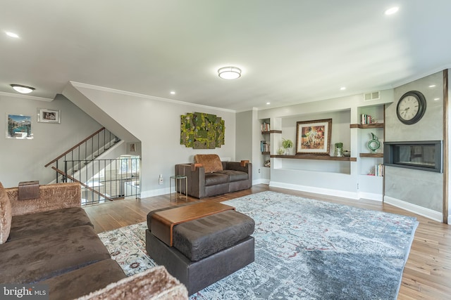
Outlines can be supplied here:
M281 188L269 188L268 185L254 185L249 190L210 197L200 201L213 200L222 202L264 190L311 197L316 200L347 204L365 209L387 211L394 214L416 216L420 223L415 232L409 259L404 267L398 299L451 299L451 226L431 221L409 211L393 207L390 204L371 200L349 200ZM189 197L188 201L199 200ZM184 202L185 200L175 202L172 199L171 201L169 195L162 195L97 204L86 207L85 211L94 223L94 229L97 233L100 233L146 221L147 213L152 209L177 206Z

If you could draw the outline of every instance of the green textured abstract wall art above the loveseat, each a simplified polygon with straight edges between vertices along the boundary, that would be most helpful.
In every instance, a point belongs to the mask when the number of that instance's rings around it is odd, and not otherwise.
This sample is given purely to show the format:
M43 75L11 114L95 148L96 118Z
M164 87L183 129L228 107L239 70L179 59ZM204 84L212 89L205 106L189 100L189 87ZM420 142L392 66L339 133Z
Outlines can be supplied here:
M180 145L194 149L214 149L224 145L226 126L216 115L188 112L180 116Z

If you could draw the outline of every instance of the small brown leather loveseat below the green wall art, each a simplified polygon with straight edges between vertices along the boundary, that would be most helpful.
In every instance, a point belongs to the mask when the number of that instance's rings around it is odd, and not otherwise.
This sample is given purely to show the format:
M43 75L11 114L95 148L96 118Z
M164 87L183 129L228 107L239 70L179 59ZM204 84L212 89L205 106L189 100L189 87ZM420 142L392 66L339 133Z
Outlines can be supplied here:
M199 199L252 187L250 162L221 162L214 154L194 155L194 164L175 164L175 174L187 176L187 194ZM182 185L179 191L185 193Z

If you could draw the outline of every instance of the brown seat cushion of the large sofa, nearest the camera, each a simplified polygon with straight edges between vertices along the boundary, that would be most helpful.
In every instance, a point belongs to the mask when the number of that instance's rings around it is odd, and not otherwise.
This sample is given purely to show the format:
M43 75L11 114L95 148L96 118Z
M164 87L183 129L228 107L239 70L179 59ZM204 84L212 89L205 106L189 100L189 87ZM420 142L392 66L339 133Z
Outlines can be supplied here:
M125 277L116 261L105 259L39 283L49 285L50 300L69 300L103 289Z

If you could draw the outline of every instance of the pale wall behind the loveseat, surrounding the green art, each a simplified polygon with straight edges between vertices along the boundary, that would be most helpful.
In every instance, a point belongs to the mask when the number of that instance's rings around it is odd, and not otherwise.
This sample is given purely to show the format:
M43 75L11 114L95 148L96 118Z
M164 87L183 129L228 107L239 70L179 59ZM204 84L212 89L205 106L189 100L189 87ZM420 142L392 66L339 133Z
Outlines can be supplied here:
M175 164L194 162L194 155L198 153L215 153L235 160L234 111L95 86L74 86L140 140L141 197L169 193L169 176L174 175ZM187 112L204 112L221 117L226 125L225 145L216 149L192 149L180 145L180 115ZM159 185L160 174L163 174L163 185Z

